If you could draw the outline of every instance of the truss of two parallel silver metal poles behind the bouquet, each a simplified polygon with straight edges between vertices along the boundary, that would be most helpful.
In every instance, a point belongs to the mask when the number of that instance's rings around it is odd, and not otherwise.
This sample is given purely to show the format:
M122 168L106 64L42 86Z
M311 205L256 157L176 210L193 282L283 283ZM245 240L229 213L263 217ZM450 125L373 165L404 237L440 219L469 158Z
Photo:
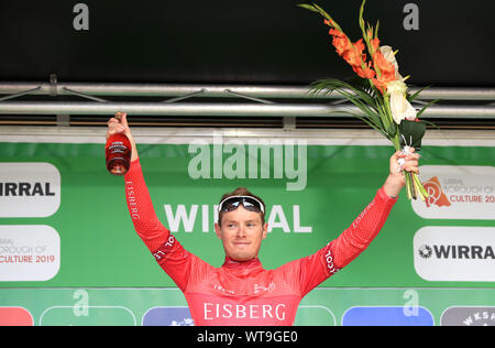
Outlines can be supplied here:
M416 90L417 88L411 88L411 93ZM108 116L124 110L133 116L283 117L288 118L287 123L292 124L293 119L289 118L346 117L336 111L342 108L355 110L343 104L340 95L311 95L308 87L300 86L61 84L55 75L51 76L50 83L0 83L0 95L4 95L0 98L0 115ZM86 100L12 101L26 95L76 96ZM164 99L111 101L108 97ZM185 101L194 97L212 98L216 101ZM442 104L431 106L424 118L495 119L495 88L429 88L418 99L418 104L432 99L442 100ZM329 115L329 111L336 113Z

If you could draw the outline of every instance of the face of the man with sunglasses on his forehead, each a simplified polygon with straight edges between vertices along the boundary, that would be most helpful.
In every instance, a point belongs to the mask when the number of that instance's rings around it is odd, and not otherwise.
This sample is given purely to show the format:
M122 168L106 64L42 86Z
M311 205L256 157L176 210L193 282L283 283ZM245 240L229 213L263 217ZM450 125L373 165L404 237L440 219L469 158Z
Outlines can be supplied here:
M262 224L260 213L249 211L242 205L233 211L223 213L221 227L215 224L226 254L235 261L257 257L261 241L266 238L267 227L267 224Z

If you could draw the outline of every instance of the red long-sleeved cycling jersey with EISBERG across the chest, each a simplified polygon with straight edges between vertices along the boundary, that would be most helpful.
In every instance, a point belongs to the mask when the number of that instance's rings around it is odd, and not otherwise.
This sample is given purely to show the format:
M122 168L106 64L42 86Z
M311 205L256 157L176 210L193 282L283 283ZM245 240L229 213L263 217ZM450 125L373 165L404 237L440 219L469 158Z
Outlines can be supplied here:
M324 248L265 270L257 258L226 258L215 268L184 249L156 217L139 160L125 174L125 196L138 235L183 291L195 325L293 325L300 300L370 244L396 202L378 189L353 224Z

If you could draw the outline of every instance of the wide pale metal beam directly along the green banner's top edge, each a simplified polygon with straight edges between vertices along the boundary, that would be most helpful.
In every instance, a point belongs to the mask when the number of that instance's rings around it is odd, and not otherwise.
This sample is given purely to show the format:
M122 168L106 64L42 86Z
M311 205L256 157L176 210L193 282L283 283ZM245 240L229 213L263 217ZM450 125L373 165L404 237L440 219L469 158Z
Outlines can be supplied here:
M3 126L0 127L0 142L28 143L98 143L106 142L106 127L46 127ZM308 145L384 145L391 142L373 129L284 129L264 128L157 128L138 127L132 129L140 144L190 144L201 140L215 143L215 139L285 141L301 139ZM437 130L425 134L424 145L428 146L495 146L491 130Z

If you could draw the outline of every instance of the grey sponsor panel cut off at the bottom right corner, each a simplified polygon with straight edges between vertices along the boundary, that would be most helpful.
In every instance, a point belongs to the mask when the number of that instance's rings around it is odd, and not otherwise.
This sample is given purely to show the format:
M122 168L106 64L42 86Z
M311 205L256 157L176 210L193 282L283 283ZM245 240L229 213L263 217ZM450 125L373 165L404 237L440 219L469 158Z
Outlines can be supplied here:
M441 326L495 326L495 307L451 307L443 312Z

